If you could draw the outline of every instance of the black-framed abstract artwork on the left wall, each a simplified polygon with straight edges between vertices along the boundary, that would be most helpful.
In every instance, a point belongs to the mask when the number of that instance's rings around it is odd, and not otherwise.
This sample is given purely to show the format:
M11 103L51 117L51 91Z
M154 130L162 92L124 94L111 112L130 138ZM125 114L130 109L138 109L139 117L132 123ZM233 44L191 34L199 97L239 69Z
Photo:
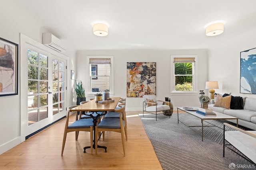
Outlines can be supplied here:
M18 44L0 38L0 96L18 94Z

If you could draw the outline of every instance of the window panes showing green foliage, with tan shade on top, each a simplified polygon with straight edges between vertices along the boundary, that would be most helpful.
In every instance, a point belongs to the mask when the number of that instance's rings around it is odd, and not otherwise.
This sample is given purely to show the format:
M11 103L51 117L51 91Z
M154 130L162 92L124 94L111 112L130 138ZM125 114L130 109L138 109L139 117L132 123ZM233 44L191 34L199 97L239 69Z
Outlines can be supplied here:
M194 91L194 58L174 58L175 91Z

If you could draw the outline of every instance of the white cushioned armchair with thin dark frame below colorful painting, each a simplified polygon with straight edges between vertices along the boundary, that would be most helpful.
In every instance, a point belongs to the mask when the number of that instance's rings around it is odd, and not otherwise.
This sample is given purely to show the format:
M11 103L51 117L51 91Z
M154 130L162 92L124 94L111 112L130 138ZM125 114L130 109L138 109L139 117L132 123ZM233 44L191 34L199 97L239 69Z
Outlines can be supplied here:
M164 111L170 110L170 104L168 105L158 105L158 102L164 102L161 100L156 100L156 95L143 95L143 116L144 111L148 113L152 113L156 115L156 121L157 121L157 115L163 114ZM170 115L169 115L170 117Z

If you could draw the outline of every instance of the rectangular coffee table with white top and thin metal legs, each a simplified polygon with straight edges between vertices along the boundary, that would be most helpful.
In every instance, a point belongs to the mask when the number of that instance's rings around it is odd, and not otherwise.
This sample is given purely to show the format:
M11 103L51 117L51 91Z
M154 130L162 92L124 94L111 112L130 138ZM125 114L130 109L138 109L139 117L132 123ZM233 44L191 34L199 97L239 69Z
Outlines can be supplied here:
M193 108L198 108L198 107L193 107ZM202 122L202 126L188 126L186 125L184 122L180 121L179 120L179 110L182 110L182 111L185 111L186 113L189 113L190 115L193 115L199 119L201 119L201 122ZM204 116L204 115L201 115L199 113L196 113L196 111L191 111L191 110L186 110L186 109L183 109L183 107L177 107L177 112L178 112L178 123L181 122L183 123L184 125L186 125L187 127L202 127L202 141L204 141L204 127L209 127L209 126L204 126L204 121L205 120L228 120L228 119L236 119L236 126L238 127L238 118L237 117L233 117L233 116L230 116L230 115L225 115L225 114L222 114L222 113L218 113L216 111L213 111L214 113L216 113L216 116ZM207 121L205 121L207 122ZM209 122L207 122L209 123ZM213 125L212 123L209 123L211 124L212 126L215 126L215 127L218 127L216 125ZM222 129L221 127L218 127L220 129ZM191 128L190 128L191 129ZM193 129L192 129L193 130Z

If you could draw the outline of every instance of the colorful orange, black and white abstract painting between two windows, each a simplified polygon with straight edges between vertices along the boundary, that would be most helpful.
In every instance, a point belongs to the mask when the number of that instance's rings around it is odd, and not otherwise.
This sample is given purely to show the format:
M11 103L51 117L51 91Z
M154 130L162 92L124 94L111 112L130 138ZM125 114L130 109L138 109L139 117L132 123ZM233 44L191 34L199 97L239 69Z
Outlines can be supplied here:
M156 63L127 63L127 97L156 95Z

